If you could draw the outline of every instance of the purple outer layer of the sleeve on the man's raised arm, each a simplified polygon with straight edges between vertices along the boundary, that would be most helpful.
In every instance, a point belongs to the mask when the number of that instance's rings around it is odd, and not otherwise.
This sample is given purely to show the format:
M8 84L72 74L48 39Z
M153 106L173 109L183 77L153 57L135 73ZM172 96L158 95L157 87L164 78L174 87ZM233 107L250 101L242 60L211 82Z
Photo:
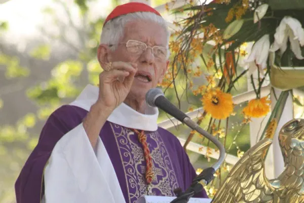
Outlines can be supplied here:
M40 202L44 195L44 168L52 150L63 135L76 126L73 122L69 124L60 122L58 113L61 113L60 110L55 111L47 120L37 146L28 157L16 181L15 191L18 203Z

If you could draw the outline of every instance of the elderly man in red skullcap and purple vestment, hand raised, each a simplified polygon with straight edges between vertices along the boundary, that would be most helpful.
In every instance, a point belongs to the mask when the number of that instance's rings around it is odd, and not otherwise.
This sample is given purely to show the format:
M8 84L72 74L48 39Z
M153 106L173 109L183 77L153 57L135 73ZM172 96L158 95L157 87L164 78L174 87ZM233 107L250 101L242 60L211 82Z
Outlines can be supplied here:
M168 41L165 20L145 4L109 14L99 88L88 85L49 117L16 182L17 202L133 203L191 185L196 173L185 151L145 103L167 70Z

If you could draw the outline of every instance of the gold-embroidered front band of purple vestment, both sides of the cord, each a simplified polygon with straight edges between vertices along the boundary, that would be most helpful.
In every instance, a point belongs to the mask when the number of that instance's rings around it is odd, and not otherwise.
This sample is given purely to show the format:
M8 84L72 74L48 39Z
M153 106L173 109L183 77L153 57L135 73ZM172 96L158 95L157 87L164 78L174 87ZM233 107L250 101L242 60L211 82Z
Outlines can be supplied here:
M134 203L147 190L143 150L133 131L120 125L110 125L124 165L129 202ZM174 196L173 190L178 183L166 146L158 131L146 133L146 136L155 173L151 190L154 195ZM155 147L151 147L151 144Z

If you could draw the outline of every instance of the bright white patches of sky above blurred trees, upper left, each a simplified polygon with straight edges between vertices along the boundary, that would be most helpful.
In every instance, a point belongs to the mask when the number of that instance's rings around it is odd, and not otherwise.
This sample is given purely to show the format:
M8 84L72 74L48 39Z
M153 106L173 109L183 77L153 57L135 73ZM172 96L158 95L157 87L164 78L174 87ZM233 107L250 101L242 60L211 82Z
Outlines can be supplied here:
M73 0L65 0L65 2L73 5ZM0 21L9 22L8 35L11 36L9 39L35 36L37 25L44 24L45 20L41 11L48 6L54 6L53 0L10 0L0 4ZM108 13L110 6L109 0L96 1L94 6L90 7L90 12L99 17ZM75 9L75 7L70 8L71 11Z

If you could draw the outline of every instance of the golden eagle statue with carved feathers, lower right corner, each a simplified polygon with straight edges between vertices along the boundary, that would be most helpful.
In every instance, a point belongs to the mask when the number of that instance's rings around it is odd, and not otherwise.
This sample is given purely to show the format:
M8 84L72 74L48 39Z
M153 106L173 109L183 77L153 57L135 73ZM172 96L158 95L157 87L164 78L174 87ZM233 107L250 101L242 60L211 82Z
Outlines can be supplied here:
M264 154L272 140L261 140L234 165L211 202L304 202L304 120L286 123L280 130L279 143L285 168L278 178L268 180L265 176Z

